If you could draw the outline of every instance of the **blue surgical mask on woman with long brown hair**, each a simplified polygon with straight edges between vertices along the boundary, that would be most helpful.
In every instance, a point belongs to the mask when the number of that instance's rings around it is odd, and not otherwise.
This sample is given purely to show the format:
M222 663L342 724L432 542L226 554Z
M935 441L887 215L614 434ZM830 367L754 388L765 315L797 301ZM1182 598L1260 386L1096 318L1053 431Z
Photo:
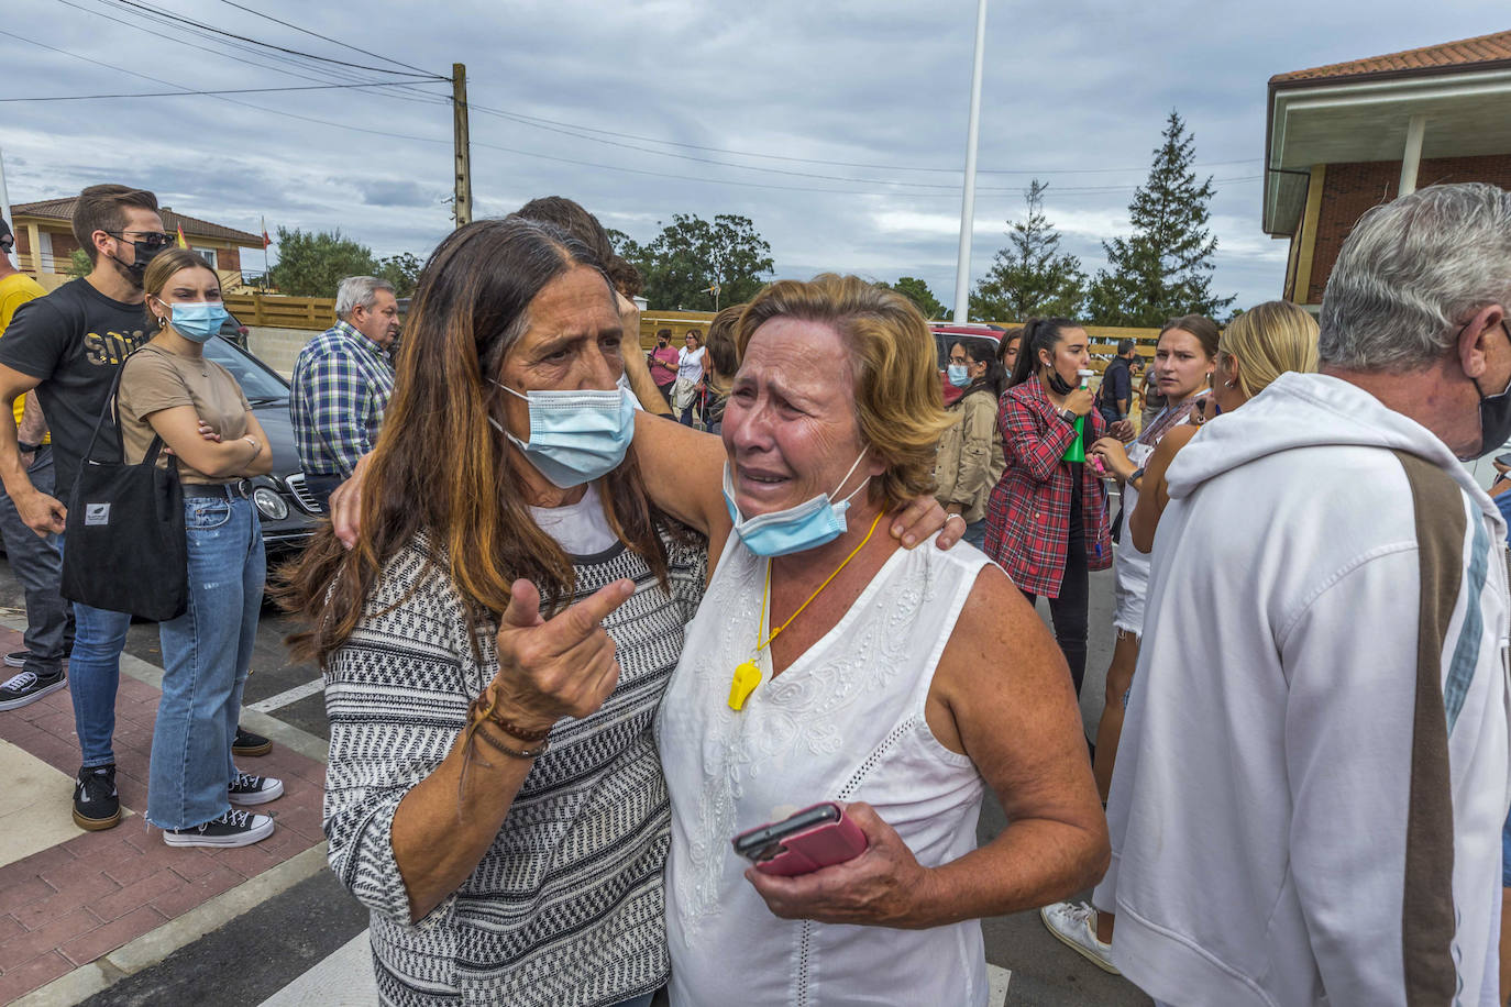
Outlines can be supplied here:
M561 489L612 473L635 439L635 399L620 386L609 391L536 390L521 396L508 385L493 383L530 403L530 439L521 441L493 417L488 423Z

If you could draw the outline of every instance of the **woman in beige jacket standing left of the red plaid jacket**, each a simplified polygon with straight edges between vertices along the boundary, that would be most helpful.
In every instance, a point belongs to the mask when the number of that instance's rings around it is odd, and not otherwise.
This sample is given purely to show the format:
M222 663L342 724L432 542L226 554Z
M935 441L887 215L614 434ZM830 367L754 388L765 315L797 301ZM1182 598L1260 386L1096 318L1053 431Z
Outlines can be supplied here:
M955 420L940 438L934 491L940 504L966 522L964 540L987 544L987 500L1002 479L1006 459L997 429L997 400L1008 374L985 340L961 340L949 349L949 382L963 390L944 411Z

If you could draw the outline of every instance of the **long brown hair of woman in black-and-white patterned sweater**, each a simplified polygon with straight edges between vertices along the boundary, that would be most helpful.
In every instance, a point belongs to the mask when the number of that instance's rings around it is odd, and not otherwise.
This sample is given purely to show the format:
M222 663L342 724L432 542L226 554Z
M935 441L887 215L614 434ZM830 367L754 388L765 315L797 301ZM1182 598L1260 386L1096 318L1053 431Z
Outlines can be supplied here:
M476 634L509 604L515 578L535 583L542 607L556 610L571 599L571 560L535 524L520 494L514 470L529 462L505 447L488 417L502 394L490 379L529 328L530 302L579 264L603 272L582 242L520 217L468 223L431 255L367 463L357 545L346 550L326 524L280 571L278 601L305 624L289 637L299 660L325 666L357 628L384 565L422 531L444 548L474 652ZM607 279L603 296L612 299ZM609 525L665 586L660 516L647 501L633 448L600 482L600 492Z

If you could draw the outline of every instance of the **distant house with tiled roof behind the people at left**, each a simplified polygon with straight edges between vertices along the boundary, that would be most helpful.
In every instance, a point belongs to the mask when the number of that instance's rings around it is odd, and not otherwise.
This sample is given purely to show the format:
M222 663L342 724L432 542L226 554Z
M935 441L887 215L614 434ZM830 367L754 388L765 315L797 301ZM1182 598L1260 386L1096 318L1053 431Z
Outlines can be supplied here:
M73 254L80 248L73 228L76 202L77 196L66 196L18 202L11 207L17 267L35 276L47 290L68 281ZM189 248L215 269L222 288L236 290L243 285L242 249L261 249L260 234L174 213L169 207L162 207L159 213L169 234L177 234L183 228Z

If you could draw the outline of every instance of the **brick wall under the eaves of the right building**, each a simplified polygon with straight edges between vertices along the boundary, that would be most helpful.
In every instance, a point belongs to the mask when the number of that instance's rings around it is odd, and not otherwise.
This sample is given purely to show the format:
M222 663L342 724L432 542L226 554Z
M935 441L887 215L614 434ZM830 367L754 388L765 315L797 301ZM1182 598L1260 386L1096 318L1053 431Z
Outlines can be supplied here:
M1488 157L1423 159L1417 189L1455 181L1488 181L1511 190L1511 154ZM1318 217L1316 251L1306 303L1322 303L1327 278L1358 217L1370 207L1396 198L1401 162L1357 162L1328 165L1322 183L1322 213Z

